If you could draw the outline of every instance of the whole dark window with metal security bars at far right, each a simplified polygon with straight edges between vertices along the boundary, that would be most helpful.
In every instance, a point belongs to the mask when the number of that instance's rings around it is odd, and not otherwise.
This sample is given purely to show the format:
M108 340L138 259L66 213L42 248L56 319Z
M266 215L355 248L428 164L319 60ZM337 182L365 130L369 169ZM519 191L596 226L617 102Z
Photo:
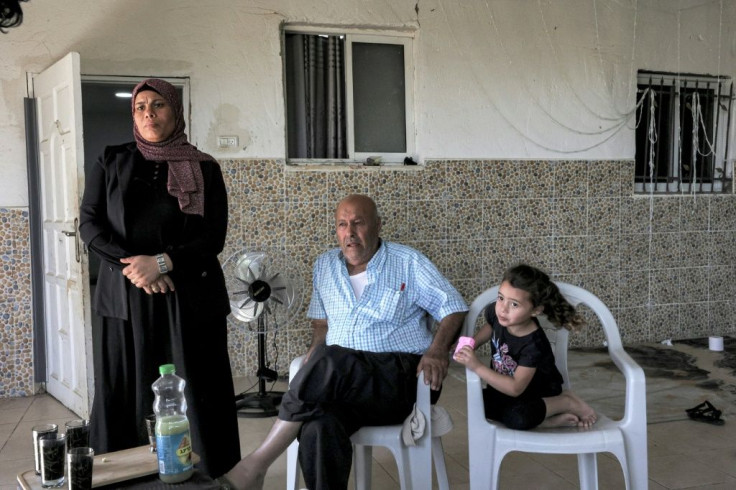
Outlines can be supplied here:
M639 71L636 192L728 191L730 77Z

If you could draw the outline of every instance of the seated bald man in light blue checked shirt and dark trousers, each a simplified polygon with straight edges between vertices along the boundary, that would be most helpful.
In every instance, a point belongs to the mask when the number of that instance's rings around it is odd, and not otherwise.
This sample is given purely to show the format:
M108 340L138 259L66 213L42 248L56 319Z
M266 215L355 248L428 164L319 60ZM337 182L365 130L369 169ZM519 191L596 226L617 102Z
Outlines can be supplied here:
M416 401L420 371L432 390L447 375L449 350L467 306L422 254L379 238L381 220L367 196L335 212L340 248L314 265L312 345L261 446L221 478L261 488L266 470L299 436L310 489L344 489L350 435L362 426L400 424ZM440 321L434 338L426 315Z

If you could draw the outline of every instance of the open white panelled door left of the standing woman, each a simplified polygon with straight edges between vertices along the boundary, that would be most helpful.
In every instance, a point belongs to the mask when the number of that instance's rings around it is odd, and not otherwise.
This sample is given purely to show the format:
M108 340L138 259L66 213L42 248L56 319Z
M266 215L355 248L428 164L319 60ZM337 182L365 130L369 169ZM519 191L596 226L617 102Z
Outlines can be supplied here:
M33 77L43 221L46 389L88 418L92 331L87 255L78 233L84 188L79 54Z

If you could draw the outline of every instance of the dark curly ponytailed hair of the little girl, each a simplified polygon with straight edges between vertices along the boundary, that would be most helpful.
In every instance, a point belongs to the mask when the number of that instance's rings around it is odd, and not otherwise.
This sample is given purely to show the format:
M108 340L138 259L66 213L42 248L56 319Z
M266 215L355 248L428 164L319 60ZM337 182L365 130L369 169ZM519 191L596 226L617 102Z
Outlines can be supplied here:
M567 302L557 285L547 274L527 264L516 265L507 270L503 280L512 287L529 293L534 306L543 306L549 321L558 327L577 332L585 326L585 320Z

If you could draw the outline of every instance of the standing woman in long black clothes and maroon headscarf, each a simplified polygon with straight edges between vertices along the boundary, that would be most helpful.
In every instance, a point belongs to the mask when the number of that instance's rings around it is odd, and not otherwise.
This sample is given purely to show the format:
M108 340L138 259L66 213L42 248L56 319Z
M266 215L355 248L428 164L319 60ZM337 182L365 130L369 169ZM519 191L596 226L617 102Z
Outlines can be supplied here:
M227 349L230 305L217 259L227 232L220 167L184 134L176 89L148 79L133 90L135 142L108 146L87 173L82 239L102 259L93 307L97 453L148 443L158 366L186 382L198 468L212 477L240 460Z

